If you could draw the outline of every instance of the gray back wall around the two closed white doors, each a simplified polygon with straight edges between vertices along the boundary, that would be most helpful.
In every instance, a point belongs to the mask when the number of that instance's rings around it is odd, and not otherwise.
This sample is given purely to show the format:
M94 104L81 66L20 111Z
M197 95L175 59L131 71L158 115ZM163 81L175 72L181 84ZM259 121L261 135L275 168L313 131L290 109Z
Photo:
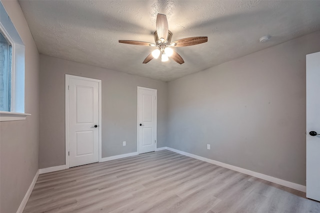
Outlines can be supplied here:
M165 145L167 83L42 54L40 70L39 168L65 163L65 74L102 80L102 158L137 151L137 86L157 89L157 147Z

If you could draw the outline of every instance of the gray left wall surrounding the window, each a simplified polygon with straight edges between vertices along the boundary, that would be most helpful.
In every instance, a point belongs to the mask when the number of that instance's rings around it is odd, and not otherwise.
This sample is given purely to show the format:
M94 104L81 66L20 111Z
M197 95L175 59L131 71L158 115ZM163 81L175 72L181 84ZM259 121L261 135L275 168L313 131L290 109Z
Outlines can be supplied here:
M24 121L0 122L0 212L15 213L38 169L39 54L17 1L2 1L25 45Z

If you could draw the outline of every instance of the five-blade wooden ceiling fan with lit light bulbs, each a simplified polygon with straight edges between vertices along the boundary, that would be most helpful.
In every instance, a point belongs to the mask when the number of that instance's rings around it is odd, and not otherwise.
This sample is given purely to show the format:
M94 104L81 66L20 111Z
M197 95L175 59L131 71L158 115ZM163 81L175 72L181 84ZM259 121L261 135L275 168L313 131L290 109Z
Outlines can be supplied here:
M132 40L119 40L119 43L157 47L151 54L146 56L142 63L147 63L153 58L158 58L161 54L161 61L167 61L168 57L171 57L175 62L182 64L184 63L182 57L170 47L191 46L208 41L208 37L206 36L197 36L171 42L172 32L168 30L168 21L166 16L160 13L156 16L155 25L156 31L153 33L155 43Z

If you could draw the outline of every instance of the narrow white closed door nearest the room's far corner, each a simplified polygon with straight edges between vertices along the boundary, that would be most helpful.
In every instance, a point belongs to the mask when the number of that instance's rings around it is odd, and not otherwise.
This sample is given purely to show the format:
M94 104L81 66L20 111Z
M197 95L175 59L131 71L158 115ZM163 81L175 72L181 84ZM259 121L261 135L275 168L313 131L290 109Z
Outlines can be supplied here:
M155 151L156 89L138 87L138 153Z

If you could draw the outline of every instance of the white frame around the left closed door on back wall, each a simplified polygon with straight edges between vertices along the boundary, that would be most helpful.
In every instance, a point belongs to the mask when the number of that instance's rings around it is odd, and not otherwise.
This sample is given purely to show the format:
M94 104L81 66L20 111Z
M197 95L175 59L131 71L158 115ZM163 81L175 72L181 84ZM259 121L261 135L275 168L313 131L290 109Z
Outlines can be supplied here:
M69 79L78 79L78 80L86 80L86 81L94 81L94 82L98 82L99 85L99 162L101 162L102 159L102 150L101 150L101 129L102 129L102 125L101 125L101 80L98 79L93 79L93 78L86 78L86 77L80 77L80 76L75 76L75 75L68 75L65 74L65 168L68 169L69 168Z

